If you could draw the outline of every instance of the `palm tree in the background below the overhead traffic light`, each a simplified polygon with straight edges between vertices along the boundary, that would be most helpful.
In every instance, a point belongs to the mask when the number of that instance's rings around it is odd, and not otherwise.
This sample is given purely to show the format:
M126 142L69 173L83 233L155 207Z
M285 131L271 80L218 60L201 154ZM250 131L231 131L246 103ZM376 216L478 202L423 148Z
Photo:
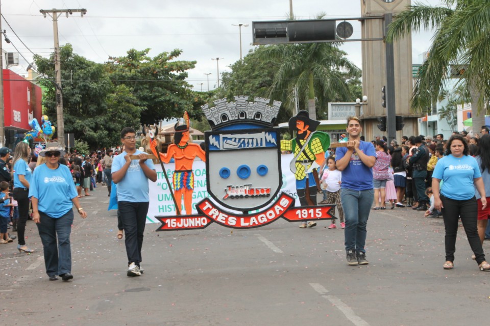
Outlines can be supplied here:
M300 102L308 103L310 118L316 119L316 105L332 100L348 100L348 80L361 71L346 58L336 43L269 45L262 52L267 60L280 63L269 96L283 99L292 107L295 87Z

